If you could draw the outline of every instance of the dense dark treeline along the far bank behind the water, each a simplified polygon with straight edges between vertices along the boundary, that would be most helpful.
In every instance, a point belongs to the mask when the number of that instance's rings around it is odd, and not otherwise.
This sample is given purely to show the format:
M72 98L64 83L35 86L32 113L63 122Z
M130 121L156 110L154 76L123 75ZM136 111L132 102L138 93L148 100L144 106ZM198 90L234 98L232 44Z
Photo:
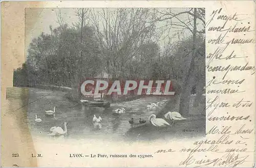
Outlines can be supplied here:
M57 27L57 30L61 30ZM57 33L57 30L54 32ZM65 35L67 33L67 35ZM14 70L14 86L33 87L36 85L56 85L72 87L77 76L81 79L86 77L100 77L101 74L108 74L108 77L116 79L147 79L147 80L181 80L186 72L187 62L191 57L191 38L183 39L174 44L168 44L163 51L155 43L143 44L137 57L126 61L121 70L115 71L116 67L106 65L97 42L93 37L87 36L92 32L91 27L84 27L84 41L82 57L79 57L77 45L79 45L79 34L77 30L69 29L59 33L59 36L42 33L34 39L28 50L27 61L22 67ZM70 36L73 34L74 36ZM62 39L63 38L63 39ZM75 43L75 38L77 38ZM61 43L63 41L63 43ZM53 44L58 45L54 46ZM203 39L198 40L200 45L196 57L195 67L196 78L204 78L204 43ZM172 47L172 50L168 49ZM66 54L67 53L67 54ZM119 55L119 59L122 55ZM80 61L79 61L80 60ZM107 64L108 65L108 64ZM125 71L126 70L126 71ZM113 71L113 73L111 73ZM82 72L79 74L79 72ZM110 73L106 73L110 72ZM116 73L115 73L116 72ZM103 76L102 76L103 77ZM78 85L77 85L78 86Z

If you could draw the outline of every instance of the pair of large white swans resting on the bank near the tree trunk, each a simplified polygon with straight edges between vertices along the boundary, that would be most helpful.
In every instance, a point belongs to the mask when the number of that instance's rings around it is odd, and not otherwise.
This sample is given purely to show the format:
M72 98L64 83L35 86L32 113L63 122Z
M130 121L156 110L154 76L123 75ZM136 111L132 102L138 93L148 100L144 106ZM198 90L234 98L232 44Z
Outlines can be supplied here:
M181 114L179 114L178 112L174 111L174 112L171 112L169 111L168 113L166 113L164 115L164 118L166 120L170 120L170 121L175 121L175 120L186 120L186 118L183 118L181 116ZM152 114L148 120L150 120L150 123L154 126L157 126L157 127L166 127L166 126L170 126L170 124L165 121L164 119L161 119L161 118L156 118L156 115L155 114Z

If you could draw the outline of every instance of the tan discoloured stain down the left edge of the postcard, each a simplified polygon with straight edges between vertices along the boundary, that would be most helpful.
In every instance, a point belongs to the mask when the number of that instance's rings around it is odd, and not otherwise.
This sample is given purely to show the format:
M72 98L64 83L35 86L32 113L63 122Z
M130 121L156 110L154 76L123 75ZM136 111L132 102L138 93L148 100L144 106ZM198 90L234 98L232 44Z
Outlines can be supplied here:
M24 122L27 115L26 108L13 105L18 104L20 96L15 100L6 98L7 88L13 87L13 69L25 62L25 8L43 7L45 2L2 2L2 55L1 58L1 120L2 120L2 163L3 167L22 166L37 167L37 159L31 157L36 153L28 125ZM31 24L38 18L31 18ZM28 31L31 31L28 29ZM10 68L11 67L11 68ZM18 154L18 157L12 157Z

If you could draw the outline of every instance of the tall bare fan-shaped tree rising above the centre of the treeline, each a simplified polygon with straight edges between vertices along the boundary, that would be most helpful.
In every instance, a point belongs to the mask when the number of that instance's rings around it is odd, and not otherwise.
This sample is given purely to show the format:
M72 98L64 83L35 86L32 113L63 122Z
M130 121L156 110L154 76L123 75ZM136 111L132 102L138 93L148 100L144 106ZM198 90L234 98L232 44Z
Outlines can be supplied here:
M124 77L142 44L152 40L155 25L148 23L150 10L101 9L92 11L91 22L96 27L106 72L112 77Z

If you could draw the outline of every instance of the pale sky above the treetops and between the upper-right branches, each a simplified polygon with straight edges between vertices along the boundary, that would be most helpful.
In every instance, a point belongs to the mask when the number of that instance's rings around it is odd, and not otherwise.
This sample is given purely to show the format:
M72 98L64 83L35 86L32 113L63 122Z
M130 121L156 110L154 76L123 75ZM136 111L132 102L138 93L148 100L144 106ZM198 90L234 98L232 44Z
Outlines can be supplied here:
M94 8L95 11L101 10L100 8ZM164 8L162 10L165 10ZM184 8L174 8L174 12L182 12ZM75 8L26 8L26 17L25 17L25 26L26 26L26 48L33 38L38 37L42 32L50 34L49 26L52 25L53 29L59 24L57 23L57 14L61 13L64 21L69 25L72 25L72 22L78 21L78 17L75 13ZM182 18L182 17L181 17ZM184 16L183 19L187 19L187 16ZM160 22L157 26L162 26L166 22ZM174 31L168 32L172 37L172 40L177 40L178 37L175 36L177 29ZM189 31L185 31L183 36L191 35ZM163 46L165 41L160 42L160 47Z

